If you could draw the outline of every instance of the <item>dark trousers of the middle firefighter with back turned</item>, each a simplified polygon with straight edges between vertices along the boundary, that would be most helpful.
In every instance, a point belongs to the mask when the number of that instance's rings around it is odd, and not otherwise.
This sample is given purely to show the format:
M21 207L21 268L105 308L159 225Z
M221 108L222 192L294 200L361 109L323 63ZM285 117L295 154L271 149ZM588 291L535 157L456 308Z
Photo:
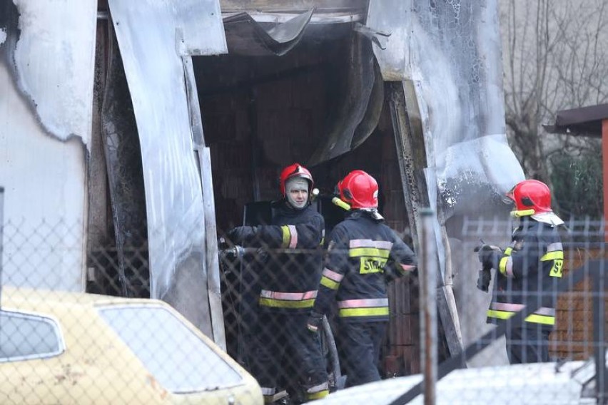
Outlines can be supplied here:
M338 342L340 365L346 374L346 386L365 384L380 380L378 364L380 345L384 339L387 323L344 322L340 319Z

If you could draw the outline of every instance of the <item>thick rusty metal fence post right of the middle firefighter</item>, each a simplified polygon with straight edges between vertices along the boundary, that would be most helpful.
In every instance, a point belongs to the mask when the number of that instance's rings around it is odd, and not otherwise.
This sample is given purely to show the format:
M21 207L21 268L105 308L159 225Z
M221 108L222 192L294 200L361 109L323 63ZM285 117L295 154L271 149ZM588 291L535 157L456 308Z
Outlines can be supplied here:
M420 210L420 346L425 405L435 404L437 383L437 260L433 218L430 208Z

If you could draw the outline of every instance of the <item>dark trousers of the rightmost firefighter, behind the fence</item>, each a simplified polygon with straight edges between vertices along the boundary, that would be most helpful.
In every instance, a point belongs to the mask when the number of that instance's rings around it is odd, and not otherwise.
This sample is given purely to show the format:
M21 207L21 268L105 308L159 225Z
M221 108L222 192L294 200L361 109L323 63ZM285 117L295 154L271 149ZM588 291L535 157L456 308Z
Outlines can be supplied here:
M549 333L549 330L534 324L507 329L510 364L549 362Z

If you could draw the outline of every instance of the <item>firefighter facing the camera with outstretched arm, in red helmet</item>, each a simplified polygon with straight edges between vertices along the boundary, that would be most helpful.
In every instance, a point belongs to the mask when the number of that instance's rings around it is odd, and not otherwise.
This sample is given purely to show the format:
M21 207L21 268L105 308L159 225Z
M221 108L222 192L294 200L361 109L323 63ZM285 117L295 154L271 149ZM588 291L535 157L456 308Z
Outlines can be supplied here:
M228 232L235 245L268 251L258 279L258 327L250 364L267 403L278 396L278 383L288 363L300 371L304 401L329 393L320 338L305 327L323 268L325 222L310 206L313 176L308 169L299 163L289 165L281 171L279 183L283 199L273 207L270 225L235 227Z

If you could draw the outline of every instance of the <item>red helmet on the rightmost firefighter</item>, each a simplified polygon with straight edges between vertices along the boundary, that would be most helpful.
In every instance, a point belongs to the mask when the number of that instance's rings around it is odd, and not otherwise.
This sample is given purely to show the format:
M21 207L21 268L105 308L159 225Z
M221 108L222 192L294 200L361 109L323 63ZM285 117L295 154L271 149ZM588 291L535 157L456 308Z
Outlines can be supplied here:
M515 211L512 212L515 217L552 212L551 191L542 181L521 181L507 193L507 197L515 202Z

